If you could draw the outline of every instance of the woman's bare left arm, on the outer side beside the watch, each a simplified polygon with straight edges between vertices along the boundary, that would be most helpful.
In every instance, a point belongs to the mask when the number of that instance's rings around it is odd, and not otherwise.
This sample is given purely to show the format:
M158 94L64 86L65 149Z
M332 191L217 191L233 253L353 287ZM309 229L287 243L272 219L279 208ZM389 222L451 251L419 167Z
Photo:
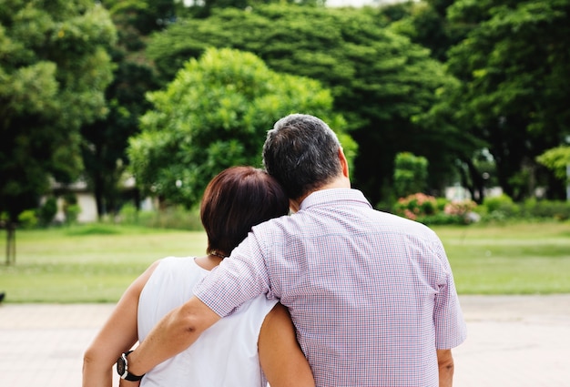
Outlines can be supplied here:
M130 284L83 357L83 387L111 387L113 366L137 342L138 297L158 261Z

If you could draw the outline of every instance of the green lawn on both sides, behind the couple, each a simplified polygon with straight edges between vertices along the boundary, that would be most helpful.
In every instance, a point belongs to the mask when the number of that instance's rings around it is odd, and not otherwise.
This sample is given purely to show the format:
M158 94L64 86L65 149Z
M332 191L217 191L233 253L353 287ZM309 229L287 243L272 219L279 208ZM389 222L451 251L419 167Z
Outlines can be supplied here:
M568 222L433 229L460 294L570 293ZM15 265L0 261L0 291L6 302L115 302L154 260L205 249L199 231L101 224L18 230Z

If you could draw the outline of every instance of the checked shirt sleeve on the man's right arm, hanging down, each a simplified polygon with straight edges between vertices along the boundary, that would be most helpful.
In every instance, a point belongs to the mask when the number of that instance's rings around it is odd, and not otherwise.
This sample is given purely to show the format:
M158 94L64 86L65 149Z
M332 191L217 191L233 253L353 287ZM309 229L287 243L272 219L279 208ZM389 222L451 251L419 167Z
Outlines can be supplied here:
M450 350L457 347L467 338L467 327L463 320L463 311L455 290L453 272L447 260L443 245L437 243L437 251L445 270L445 279L435 295L433 323L435 325L435 348Z

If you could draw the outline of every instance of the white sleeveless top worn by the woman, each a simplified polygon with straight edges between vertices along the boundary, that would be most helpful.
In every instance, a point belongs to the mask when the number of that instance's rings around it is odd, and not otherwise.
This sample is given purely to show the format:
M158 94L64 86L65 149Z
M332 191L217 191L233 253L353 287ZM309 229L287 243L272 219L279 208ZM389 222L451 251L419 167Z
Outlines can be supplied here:
M138 303L138 340L143 341L156 323L193 295L194 285L209 271L193 257L162 260ZM263 386L258 338L265 316L277 303L265 296L249 300L236 312L204 331L186 351L158 364L141 381L141 386Z

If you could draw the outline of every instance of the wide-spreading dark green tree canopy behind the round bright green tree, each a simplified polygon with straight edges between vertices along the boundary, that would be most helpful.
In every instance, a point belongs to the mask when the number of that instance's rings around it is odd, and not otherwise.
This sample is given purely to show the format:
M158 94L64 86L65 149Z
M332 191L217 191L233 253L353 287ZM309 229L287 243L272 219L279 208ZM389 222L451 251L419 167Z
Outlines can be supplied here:
M163 79L208 46L260 56L274 71L318 79L331 89L346 117L359 156L353 182L378 202L392 188L393 161L401 151L428 158L430 185L440 187L453 169L457 127L415 119L453 79L429 51L382 28L371 9L264 5L217 10L206 20L181 20L153 37L148 55Z

